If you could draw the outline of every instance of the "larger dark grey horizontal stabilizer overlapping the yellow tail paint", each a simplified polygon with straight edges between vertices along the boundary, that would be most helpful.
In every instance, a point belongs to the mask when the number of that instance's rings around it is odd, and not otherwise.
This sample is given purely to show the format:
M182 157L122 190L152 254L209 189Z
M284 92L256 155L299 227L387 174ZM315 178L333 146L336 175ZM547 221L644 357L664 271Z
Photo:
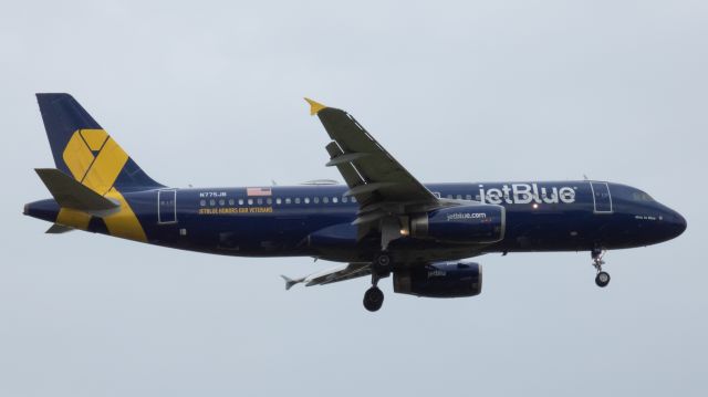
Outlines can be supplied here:
M112 212L121 206L85 187L69 175L55 168L38 168L40 176L54 200L62 208L75 209L84 212ZM96 215L98 215L96 213ZM107 213L105 213L107 215Z

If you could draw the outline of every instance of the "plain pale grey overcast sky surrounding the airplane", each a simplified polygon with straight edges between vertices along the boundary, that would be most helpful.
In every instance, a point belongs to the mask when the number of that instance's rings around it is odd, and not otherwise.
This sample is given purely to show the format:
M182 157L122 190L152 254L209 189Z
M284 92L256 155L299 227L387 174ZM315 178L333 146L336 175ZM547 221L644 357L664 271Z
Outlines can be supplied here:
M705 396L706 1L10 1L0 7L1 396ZM423 181L647 190L679 239L478 258L478 297L332 263L239 259L21 216L51 167L33 94L70 92L177 187L336 178L303 96L354 114Z

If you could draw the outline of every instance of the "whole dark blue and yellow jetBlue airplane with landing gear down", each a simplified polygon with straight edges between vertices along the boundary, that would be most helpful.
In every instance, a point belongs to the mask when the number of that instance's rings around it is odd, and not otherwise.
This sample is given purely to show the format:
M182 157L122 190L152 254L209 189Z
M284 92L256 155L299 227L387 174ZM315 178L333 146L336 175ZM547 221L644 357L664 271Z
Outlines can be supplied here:
M394 292L475 296L487 253L589 251L604 288L606 250L674 239L686 219L645 191L600 180L421 184L348 113L305 98L346 182L174 188L152 179L69 94L37 94L56 168L35 169L52 198L24 215L48 233L84 230L237 257L311 257L344 264L285 288L369 276L364 307Z

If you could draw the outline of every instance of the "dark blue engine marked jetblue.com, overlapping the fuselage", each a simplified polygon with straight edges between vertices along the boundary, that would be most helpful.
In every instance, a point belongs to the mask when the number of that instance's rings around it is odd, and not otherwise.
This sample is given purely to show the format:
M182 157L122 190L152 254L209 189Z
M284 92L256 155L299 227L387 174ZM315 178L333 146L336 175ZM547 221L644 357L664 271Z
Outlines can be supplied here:
M410 236L447 242L490 243L504 237L504 208L471 205L441 208L410 218Z

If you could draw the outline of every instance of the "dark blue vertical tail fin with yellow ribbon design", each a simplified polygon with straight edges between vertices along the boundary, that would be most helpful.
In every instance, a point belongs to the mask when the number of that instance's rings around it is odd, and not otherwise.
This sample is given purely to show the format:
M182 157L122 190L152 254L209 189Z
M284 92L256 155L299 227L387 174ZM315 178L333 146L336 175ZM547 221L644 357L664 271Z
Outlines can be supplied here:
M100 195L163 187L69 94L37 94L56 168Z

